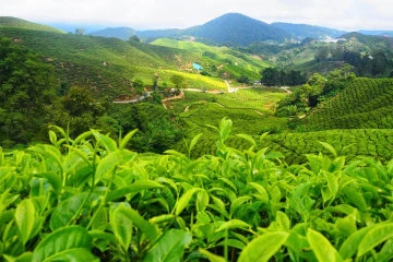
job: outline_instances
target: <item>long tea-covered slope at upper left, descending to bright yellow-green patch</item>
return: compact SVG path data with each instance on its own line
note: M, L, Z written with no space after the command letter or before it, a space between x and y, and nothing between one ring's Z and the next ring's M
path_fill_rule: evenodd
M116 38L61 34L16 27L0 27L0 36L12 38L55 66L59 83L87 86L98 97L132 95L132 81L140 79L153 85L158 75L159 86L171 86L170 78L181 74L186 87L226 88L219 79L200 76L192 62L217 66L211 59L188 50L153 46Z

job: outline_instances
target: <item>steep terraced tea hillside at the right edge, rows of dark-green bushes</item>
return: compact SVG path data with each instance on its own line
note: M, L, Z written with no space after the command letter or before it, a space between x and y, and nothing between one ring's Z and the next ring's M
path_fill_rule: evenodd
M393 79L356 79L303 124L308 130L393 128Z

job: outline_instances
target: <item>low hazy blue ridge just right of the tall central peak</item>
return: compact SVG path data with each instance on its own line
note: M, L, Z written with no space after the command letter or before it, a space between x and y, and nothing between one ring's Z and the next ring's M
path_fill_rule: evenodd
M343 34L346 34L345 31L338 31L322 26L315 26L315 25L307 25L307 24L290 24L290 23L272 23L273 26L278 27L288 34L290 34L291 37L302 40L305 38L314 38L314 39L322 39L326 37L336 38L342 36Z

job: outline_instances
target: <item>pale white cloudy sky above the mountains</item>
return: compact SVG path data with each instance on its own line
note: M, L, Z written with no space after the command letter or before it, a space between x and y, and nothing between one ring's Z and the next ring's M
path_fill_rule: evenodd
M0 16L36 23L186 28L225 13L345 31L393 31L392 0L0 0Z

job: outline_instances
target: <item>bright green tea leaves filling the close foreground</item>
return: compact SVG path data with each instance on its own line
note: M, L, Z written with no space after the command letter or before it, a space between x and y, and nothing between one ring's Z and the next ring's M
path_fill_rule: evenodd
M140 155L91 130L0 151L0 255L19 261L389 261L393 162L326 143L288 166L250 135L191 159ZM201 135L189 143L192 153Z

